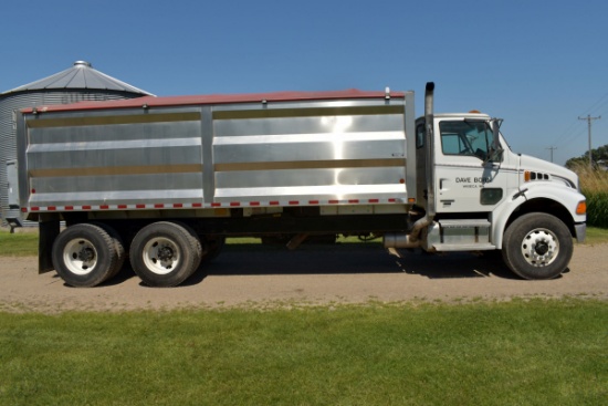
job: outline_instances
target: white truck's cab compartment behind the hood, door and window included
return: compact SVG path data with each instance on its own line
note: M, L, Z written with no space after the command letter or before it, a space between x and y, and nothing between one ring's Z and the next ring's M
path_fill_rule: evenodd
M489 212L509 190L516 188L509 169L516 167L512 154L504 153L504 139L493 146L490 116L480 113L434 115L432 174L427 174L424 118L417 121L416 149L421 165L418 196L423 196L427 175L433 176L438 212Z

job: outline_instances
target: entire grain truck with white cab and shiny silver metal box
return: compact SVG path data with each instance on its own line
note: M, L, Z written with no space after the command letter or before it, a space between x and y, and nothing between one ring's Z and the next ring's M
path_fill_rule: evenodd
M39 221L40 272L74 287L127 257L145 283L174 287L231 236L501 250L523 278L559 275L585 238L577 176L511 152L500 119L433 114L433 87L418 119L413 92L389 90L24 110L11 198L18 220Z

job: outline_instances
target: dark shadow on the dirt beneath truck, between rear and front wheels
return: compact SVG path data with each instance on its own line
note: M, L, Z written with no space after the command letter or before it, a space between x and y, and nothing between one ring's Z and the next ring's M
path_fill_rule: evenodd
M520 279L496 256L469 252L429 254L386 250L380 244L308 246L296 251L261 246L230 247L205 263L184 285L208 275L408 273L429 279Z

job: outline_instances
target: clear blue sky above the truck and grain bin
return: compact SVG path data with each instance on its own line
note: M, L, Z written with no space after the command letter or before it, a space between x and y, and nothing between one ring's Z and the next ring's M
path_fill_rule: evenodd
M28 0L0 4L0 93L84 60L159 96L416 92L564 164L608 144L606 0ZM549 149L556 148L556 149Z

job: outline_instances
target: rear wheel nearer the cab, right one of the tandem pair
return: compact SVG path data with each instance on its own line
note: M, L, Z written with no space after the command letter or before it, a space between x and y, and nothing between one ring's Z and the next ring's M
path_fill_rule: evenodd
M186 225L159 221L144 227L130 243L130 264L144 283L177 287L197 269L200 240Z

